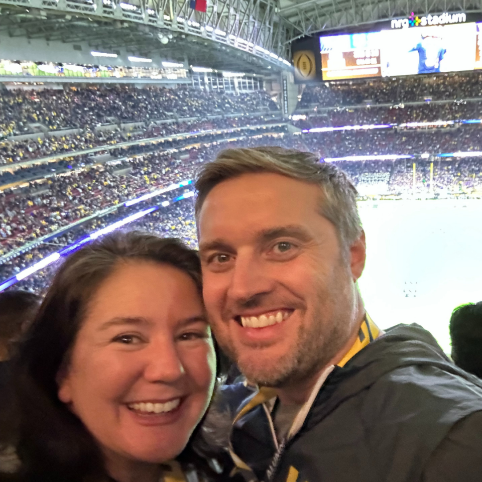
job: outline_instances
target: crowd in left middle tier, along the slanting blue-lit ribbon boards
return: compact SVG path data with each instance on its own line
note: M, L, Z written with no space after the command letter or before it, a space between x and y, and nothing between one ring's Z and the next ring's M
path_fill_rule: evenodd
M293 144L292 141L285 142L275 137L212 143L176 154L156 152L113 166L96 166L95 169L74 172L70 176L49 179L47 184L35 185L25 193L0 193L0 205L5 206L5 210L0 212L0 257L102 208L121 205L128 199L190 179L199 164L213 159L217 151L227 146L253 147L273 143L302 148L299 143ZM149 202L147 207L155 204ZM87 221L57 237L54 242L0 264L0 281L57 251L58 246L71 244L88 232L141 210L140 206L134 205L132 212L122 206L112 215Z

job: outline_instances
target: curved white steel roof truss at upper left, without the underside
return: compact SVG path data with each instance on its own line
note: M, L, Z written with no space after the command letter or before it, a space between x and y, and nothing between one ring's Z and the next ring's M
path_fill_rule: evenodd
M39 23L56 14L67 24L76 17L117 27L141 24L159 38L169 31L195 36L287 69L287 34L292 27L278 16L279 1L209 0L206 12L191 9L189 0L0 0L0 8L16 7L24 15L37 16Z

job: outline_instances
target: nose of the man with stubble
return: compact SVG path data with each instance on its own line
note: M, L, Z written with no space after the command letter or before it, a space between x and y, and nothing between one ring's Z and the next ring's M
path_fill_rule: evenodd
M227 296L231 302L245 303L267 294L273 289L273 280L261 259L249 254L236 257Z

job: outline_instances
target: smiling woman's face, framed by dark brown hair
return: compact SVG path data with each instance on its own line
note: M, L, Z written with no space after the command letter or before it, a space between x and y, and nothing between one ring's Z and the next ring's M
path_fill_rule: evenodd
M127 262L92 297L58 396L107 457L157 463L186 445L215 365L192 279L168 265Z

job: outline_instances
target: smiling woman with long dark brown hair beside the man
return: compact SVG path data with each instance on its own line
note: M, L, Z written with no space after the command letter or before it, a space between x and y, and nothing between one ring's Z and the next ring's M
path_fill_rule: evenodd
M166 462L206 411L215 364L193 251L138 232L83 247L57 272L16 363L17 479L179 477Z

